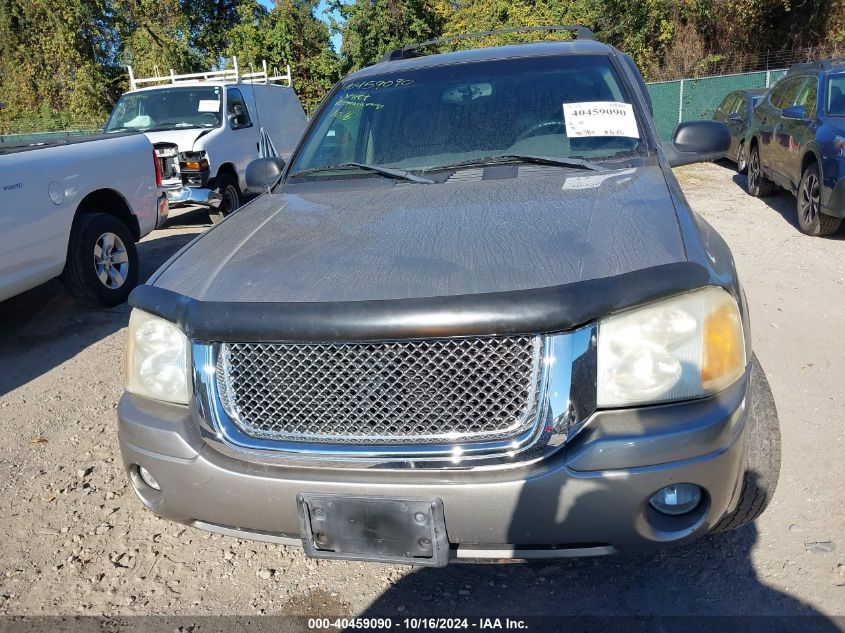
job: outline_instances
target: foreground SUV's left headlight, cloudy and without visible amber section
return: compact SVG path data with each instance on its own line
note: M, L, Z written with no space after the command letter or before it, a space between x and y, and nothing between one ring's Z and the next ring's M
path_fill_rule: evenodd
M173 323L133 310L126 346L126 391L188 404L188 338Z

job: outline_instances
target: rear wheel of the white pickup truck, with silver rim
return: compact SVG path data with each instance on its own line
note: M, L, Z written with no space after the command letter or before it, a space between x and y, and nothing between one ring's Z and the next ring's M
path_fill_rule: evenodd
M126 301L138 283L138 251L129 227L107 213L77 216L61 280L68 293L88 306Z

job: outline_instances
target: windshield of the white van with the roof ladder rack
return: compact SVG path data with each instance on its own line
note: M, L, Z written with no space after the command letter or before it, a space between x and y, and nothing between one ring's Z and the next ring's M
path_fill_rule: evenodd
M217 127L221 122L221 89L161 88L123 95L114 107L106 132Z

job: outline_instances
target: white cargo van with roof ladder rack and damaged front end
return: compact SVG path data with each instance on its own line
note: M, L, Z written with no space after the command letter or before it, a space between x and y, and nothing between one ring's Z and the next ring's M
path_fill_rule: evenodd
M237 209L247 192L246 166L260 156L290 156L305 129L302 105L284 75L233 70L136 78L114 107L105 132L140 131L155 147L171 207L207 205L218 222ZM154 84L141 87L146 84ZM284 84L284 85L283 85Z

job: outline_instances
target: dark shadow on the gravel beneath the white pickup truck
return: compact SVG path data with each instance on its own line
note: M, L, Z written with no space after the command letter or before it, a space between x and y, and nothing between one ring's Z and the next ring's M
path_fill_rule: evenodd
M139 243L139 279L146 280L194 237L195 233L162 237L153 233ZM114 308L83 307L55 279L0 302L0 396L126 327L129 311L125 303ZM106 370L119 373L121 363L122 358L115 358Z

